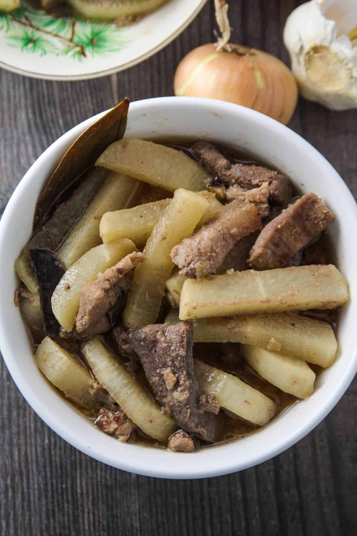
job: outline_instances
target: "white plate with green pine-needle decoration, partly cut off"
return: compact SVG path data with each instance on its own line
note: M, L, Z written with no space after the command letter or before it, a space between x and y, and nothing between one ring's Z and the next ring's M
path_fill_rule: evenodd
M170 0L132 26L56 19L25 1L0 12L0 67L48 80L110 75L147 59L176 38L207 0Z

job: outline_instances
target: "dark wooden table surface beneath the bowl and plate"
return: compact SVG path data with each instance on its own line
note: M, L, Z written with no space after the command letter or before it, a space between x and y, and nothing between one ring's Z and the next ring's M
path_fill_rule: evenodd
M299 3L231 0L232 42L288 63L282 30ZM0 71L0 213L29 166L73 125L124 95L131 100L172 95L179 60L211 41L213 29L209 2L156 56L96 80L60 83ZM357 110L331 112L302 99L290 123L335 166L354 195L356 124ZM357 534L357 380L330 415L282 455L240 473L191 481L139 477L88 458L37 417L2 361L0 382L4 536Z

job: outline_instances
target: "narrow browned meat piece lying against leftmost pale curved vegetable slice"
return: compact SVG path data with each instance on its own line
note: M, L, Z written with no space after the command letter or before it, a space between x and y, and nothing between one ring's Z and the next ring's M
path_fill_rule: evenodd
M143 258L142 253L134 251L104 273L98 273L95 281L90 281L82 288L75 320L75 328L81 338L93 337L110 329L107 312L115 305L120 295L128 292L133 268Z

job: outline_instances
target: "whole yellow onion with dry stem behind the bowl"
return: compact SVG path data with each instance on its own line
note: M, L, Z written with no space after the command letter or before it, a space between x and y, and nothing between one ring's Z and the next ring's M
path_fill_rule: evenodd
M183 58L174 76L175 95L234 102L286 124L298 99L294 75L275 56L228 43L228 6L222 0L215 0L215 4L223 36L217 43L204 44Z

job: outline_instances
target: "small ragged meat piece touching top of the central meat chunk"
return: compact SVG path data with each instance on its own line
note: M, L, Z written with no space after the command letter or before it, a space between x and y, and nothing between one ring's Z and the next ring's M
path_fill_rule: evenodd
M266 218L269 215L269 183L263 182L259 188L253 188L252 190L244 190L235 184L229 188L211 186L209 188L214 191L218 198L230 203L234 199L240 199L242 202L253 203L256 206L257 211L261 218Z

